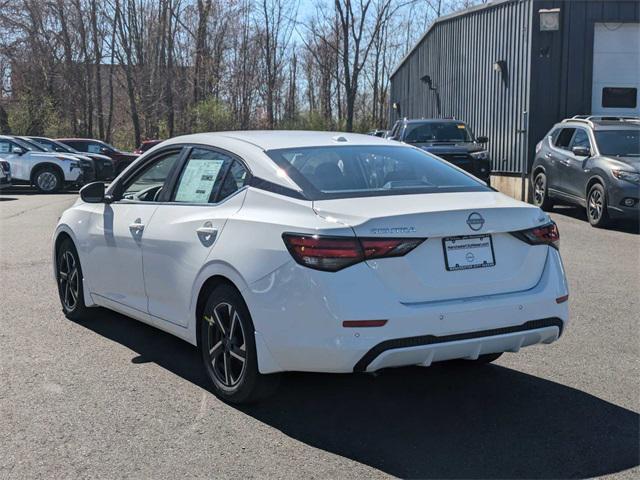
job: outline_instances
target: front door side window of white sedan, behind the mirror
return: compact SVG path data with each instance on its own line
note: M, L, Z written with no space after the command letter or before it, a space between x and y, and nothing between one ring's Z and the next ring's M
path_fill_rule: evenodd
M124 183L122 198L138 202L155 202L176 165L181 151L171 152L151 161Z

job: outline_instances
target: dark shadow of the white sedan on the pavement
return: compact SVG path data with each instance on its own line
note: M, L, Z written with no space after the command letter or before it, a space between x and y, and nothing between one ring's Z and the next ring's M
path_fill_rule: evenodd
M102 309L81 325L208 390L189 344ZM403 478L585 478L640 463L637 413L497 365L287 374L273 397L237 408Z

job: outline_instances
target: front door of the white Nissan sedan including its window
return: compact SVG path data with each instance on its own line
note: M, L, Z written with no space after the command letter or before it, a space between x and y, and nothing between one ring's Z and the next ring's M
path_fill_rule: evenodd
M147 314L142 242L180 154L177 149L149 159L109 190L115 201L92 215L85 267L92 294Z

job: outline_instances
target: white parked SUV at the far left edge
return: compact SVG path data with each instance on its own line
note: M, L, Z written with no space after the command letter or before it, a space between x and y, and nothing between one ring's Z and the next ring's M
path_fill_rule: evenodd
M40 151L36 146L8 135L0 135L0 156L11 165L14 184L33 185L42 193L83 185L85 179L93 175L90 166L83 166L81 160L71 155Z

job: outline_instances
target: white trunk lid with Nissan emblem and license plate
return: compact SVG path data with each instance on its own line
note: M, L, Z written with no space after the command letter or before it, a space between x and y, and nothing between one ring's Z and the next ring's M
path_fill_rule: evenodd
M358 237L427 239L405 256L367 262L403 303L533 288L542 275L548 252L546 245L531 246L510 232L543 225L549 217L537 207L497 192L321 200L314 202L314 210L324 218L349 225ZM484 255L490 264L491 254L495 265L467 268L467 250L462 251L463 260L458 259L460 268L448 265L458 257L451 250L445 253L445 240L450 239L449 247L461 242L451 237L476 237L469 241L483 244L473 250L477 258L469 265Z

